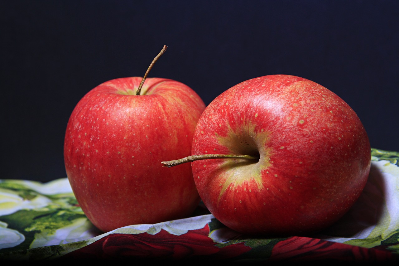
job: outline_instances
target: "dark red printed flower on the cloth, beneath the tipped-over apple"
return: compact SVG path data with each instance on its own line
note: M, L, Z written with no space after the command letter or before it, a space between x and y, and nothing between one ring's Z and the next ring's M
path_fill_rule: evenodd
M272 250L270 260L312 261L339 260L351 262L390 261L392 252L376 248L361 248L326 240L292 236L278 242Z

